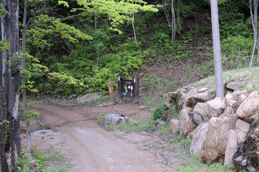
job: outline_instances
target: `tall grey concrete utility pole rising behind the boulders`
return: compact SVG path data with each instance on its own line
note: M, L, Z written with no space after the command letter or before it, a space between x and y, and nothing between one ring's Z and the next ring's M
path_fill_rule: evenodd
M217 0L210 0L211 6L211 22L212 22L212 37L213 37L213 54L214 54L214 71L216 80L216 97L224 97L223 90L223 74L221 63L220 50L220 28Z

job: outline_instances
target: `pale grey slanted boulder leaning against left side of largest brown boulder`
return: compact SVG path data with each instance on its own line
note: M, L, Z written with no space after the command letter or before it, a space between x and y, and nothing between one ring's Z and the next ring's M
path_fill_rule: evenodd
M208 123L201 123L194 131L193 131L193 141L190 148L190 153L193 155L200 156L201 155L201 146L206 137L206 132L208 131Z

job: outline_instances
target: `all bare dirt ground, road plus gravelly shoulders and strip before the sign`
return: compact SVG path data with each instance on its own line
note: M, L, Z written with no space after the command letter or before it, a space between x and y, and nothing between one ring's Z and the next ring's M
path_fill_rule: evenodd
M32 142L45 152L48 149L66 152L70 171L175 171L161 163L162 155L150 149L149 142L141 141L159 143L159 136L148 135L145 131L139 134L111 132L96 123L101 113L123 113L145 121L151 112L140 107L35 104L31 109L40 113L44 125L59 133L56 136L32 136ZM24 145L26 139L22 142Z

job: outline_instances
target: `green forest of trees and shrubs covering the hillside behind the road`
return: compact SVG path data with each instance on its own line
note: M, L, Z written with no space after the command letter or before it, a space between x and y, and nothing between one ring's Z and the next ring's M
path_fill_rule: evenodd
M223 72L258 68L257 4L217 1ZM33 159L30 125L39 116L31 109L34 103L74 103L100 92L99 99L83 105L104 104L108 79L117 96L118 74L138 75L140 103L155 108L158 118L168 92L215 74L209 0L1 0L0 17L2 171L9 168L9 147L12 171L30 171L22 159ZM19 116L26 121L28 154Z

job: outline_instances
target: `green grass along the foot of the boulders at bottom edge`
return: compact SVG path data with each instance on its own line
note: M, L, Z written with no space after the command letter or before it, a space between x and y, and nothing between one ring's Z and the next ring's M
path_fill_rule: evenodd
M181 172L234 172L235 166L233 164L223 166L221 163L203 164L199 156L189 155L189 160L185 160L182 165L177 165L176 170Z

